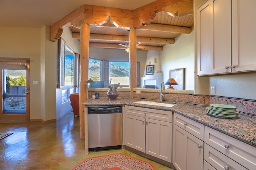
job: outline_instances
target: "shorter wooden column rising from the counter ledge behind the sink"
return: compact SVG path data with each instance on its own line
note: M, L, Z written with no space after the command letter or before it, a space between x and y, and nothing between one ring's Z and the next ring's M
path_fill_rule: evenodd
M136 82L137 82L137 74L136 74L136 43L137 43L137 37L136 37L136 29L131 28L130 29L130 36L129 36L129 47L130 47L130 53L129 53L129 62L130 62L130 88L131 88L131 98L133 98L133 89L136 88Z

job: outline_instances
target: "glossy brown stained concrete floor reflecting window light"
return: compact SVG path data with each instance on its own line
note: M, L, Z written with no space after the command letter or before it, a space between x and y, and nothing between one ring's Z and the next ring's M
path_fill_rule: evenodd
M151 162L156 170L173 170L128 150L107 150L84 154L79 117L64 115L52 123L0 123L0 133L13 133L0 140L0 170L71 170L86 158L124 153Z

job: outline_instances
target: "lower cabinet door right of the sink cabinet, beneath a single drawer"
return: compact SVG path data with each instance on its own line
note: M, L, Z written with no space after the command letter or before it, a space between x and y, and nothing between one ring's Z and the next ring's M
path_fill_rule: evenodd
M202 170L204 142L174 125L173 165L177 170Z

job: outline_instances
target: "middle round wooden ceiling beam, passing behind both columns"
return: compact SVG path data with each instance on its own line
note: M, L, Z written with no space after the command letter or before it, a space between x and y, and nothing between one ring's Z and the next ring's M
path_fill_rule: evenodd
M72 37L80 39L80 33L72 33ZM129 36L124 36L124 35L90 34L90 39L108 40L108 41L123 41L125 43L129 42ZM137 42L174 44L175 40L174 39L167 39L167 38L137 37Z

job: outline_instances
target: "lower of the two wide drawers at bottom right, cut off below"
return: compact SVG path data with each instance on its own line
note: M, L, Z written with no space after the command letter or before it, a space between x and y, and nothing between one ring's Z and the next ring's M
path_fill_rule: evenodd
M247 170L244 166L228 158L218 150L204 143L204 160L217 170Z

